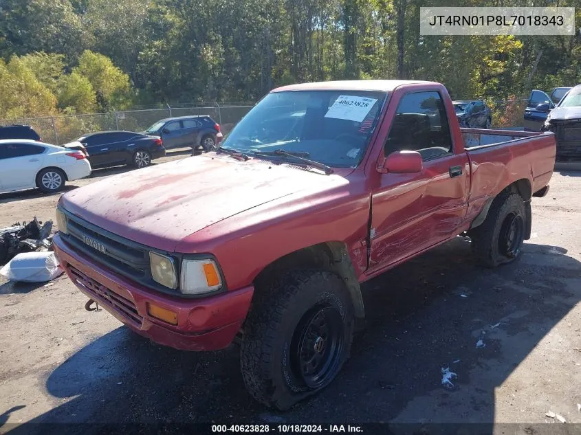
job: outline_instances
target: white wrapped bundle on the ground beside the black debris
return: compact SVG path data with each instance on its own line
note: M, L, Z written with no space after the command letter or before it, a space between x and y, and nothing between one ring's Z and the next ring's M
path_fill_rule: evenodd
M61 274L54 252L23 252L0 269L0 275L10 281L45 282Z

